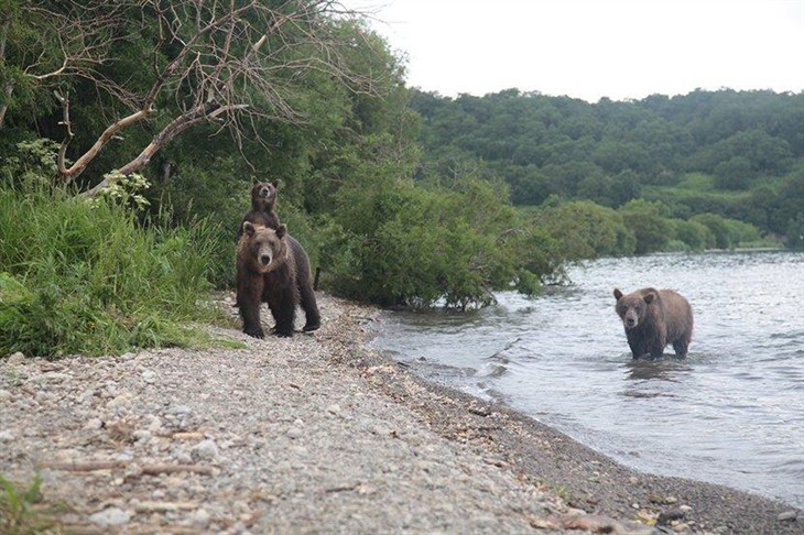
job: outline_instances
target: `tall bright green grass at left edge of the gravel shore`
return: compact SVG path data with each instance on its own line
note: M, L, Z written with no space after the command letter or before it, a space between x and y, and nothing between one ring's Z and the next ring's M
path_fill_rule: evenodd
M112 200L0 188L0 356L208 347L217 314L204 221L138 221Z

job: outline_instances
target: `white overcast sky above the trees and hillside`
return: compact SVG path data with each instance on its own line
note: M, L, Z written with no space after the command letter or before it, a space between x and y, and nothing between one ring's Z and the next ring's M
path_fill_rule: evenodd
M696 88L804 91L804 0L344 0L408 85L596 102Z

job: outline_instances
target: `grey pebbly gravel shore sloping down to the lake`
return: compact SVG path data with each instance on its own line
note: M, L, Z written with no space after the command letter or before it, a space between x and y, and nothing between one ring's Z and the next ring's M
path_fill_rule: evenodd
M248 349L0 360L0 474L68 533L804 533L789 505L623 468L367 348L374 310ZM0 523L0 527L2 524Z

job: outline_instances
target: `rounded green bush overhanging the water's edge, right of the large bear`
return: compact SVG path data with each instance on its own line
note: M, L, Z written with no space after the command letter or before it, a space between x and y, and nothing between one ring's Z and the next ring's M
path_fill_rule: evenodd
M378 178L378 176L381 176ZM466 308L491 291L540 290L556 264L551 240L477 178L449 185L356 175L322 222L325 284L346 296L415 307Z

